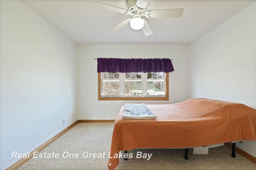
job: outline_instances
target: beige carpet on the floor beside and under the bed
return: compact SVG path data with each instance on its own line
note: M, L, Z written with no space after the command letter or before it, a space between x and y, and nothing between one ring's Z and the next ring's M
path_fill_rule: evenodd
M31 158L18 170L108 170L108 154L114 123L78 123L65 134L44 148L39 154L46 158ZM59 158L47 158L52 153ZM78 158L64 158L77 154ZM97 158L83 158L83 153L97 154ZM106 153L103 158L104 152ZM150 160L136 158L136 153L152 153ZM210 148L208 155L193 155L189 149L188 160L184 159L184 149L136 149L128 151L133 158L121 159L117 170L256 170L256 164L226 146ZM63 155L64 154L64 155ZM79 154L79 156L78 156ZM100 156L100 154L102 154ZM74 155L75 156L75 155ZM84 155L86 157L86 154ZM102 157L102 158L100 158Z

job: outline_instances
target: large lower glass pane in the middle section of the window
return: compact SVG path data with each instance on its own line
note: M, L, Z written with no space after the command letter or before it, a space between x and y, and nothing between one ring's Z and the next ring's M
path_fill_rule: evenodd
M141 96L142 85L141 81L126 81L125 82L125 95L126 96Z

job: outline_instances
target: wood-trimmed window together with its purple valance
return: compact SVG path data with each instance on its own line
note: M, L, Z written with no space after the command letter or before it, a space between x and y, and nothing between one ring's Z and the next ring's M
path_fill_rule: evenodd
M97 58L98 100L169 100L171 59Z

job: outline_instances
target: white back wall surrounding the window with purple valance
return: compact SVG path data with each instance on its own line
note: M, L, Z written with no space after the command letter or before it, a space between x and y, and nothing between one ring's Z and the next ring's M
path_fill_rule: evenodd
M170 58L169 101L98 101L97 60L94 58ZM116 119L125 102L177 103L188 99L188 46L80 45L78 46L78 119Z

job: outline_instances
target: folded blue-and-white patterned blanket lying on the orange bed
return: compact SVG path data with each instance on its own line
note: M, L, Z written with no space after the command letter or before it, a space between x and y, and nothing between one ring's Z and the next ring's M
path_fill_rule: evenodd
M124 104L123 119L156 119L156 116L148 109L148 107L142 104Z

